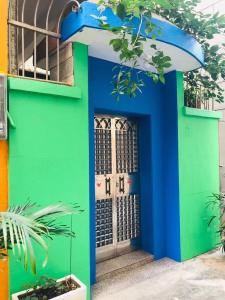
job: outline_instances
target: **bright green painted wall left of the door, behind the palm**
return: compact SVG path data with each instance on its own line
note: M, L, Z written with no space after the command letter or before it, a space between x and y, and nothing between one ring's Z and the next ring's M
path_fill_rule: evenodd
M71 253L72 272L90 287L87 46L76 44L74 58L75 81L81 92L9 78L9 109L16 126L9 133L9 192L11 204L27 199L41 206L63 201L78 203L85 210L73 217L77 237ZM63 221L70 222L70 217ZM39 252L39 262L42 258ZM50 241L48 265L39 267L38 273L54 278L70 273L69 239ZM24 289L33 279L11 257L11 293Z

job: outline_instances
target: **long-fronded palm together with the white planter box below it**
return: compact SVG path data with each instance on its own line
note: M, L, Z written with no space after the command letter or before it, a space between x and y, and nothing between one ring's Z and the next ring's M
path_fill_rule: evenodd
M11 250L14 255L17 255L23 261L25 270L28 269L30 261L31 270L36 274L33 242L39 244L46 252L43 262L43 267L45 267L48 260L46 238L52 239L57 235L74 237L71 228L56 223L59 217L73 214L74 209L66 207L62 203L50 205L36 211L34 211L34 208L34 204L27 203L11 207L6 212L0 212L0 259L4 259L7 256L7 251ZM46 292L48 294L45 295ZM48 279L43 284L34 286L31 290L12 295L12 299L85 300L86 287L74 275L70 274L57 281Z

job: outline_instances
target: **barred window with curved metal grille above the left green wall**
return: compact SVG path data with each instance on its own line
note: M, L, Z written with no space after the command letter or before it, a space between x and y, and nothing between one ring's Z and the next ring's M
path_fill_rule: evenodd
M60 27L76 0L9 0L9 73L73 84L71 43L61 42Z

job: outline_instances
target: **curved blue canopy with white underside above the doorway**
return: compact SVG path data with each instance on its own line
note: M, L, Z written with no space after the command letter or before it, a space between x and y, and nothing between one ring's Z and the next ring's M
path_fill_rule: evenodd
M90 56L118 63L118 55L109 46L113 34L103 30L99 20L93 17L100 15L97 8L98 5L95 3L83 2L79 12L71 12L62 23L62 40L88 44ZM114 15L110 8L107 8L102 15L107 17L107 23L111 26L123 25L121 19ZM141 34L147 37L145 52L151 55L153 50L150 50L150 45L156 44L165 55L170 56L172 67L167 72L172 70L186 72L204 66L203 49L193 36L162 18L153 18L153 23L156 28L160 28L156 40L152 39L152 34L146 36L144 24L141 28ZM137 30L138 25L139 20L134 20L132 23L134 31Z

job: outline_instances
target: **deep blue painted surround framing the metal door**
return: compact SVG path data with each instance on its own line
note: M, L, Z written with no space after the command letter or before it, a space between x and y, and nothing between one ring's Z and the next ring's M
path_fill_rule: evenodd
M111 96L114 64L89 58L90 134L90 249L91 283L96 280L95 249L95 149L94 115L132 116L139 122L142 249L155 259L168 255L180 259L179 178L177 140L176 72L167 83L154 84L146 78L146 88L135 99ZM168 148L170 164L168 165ZM166 170L166 174L165 174ZM171 200L173 206L171 206ZM169 216L172 215L172 220ZM168 224L167 224L168 222ZM168 226L167 226L168 225ZM172 238L172 243L171 239Z

